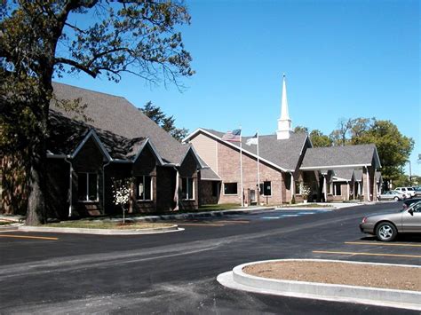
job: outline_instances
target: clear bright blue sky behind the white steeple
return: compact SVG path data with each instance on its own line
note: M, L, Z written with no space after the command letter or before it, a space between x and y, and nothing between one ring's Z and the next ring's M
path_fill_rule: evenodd
M148 100L178 127L256 130L271 134L287 75L293 127L329 134L338 119L391 120L414 138L412 173L421 175L420 6L417 1L187 1L192 23L181 28L196 75L187 89L121 83L85 75L58 80Z

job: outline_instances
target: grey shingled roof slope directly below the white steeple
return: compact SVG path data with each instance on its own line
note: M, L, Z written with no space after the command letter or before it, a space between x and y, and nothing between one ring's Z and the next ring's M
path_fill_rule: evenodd
M225 132L203 129L222 138ZM257 154L257 146L247 146L246 142L252 137L242 137L242 150ZM303 132L291 133L289 139L278 140L276 135L258 136L258 156L270 161L282 169L295 170L299 156L306 142L307 135ZM240 146L238 142L230 142Z

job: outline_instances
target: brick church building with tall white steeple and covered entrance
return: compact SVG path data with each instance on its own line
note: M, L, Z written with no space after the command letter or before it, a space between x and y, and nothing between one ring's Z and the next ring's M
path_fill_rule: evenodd
M381 167L376 146L314 148L306 133L293 132L285 76L277 127L273 135L258 136L258 146L247 145L251 137L227 141L225 132L217 130L199 128L189 134L184 142L193 145L206 164L200 170L201 202L279 205L376 199L376 170ZM336 173L353 171L361 173L359 181L346 177L345 184L338 185L344 178Z

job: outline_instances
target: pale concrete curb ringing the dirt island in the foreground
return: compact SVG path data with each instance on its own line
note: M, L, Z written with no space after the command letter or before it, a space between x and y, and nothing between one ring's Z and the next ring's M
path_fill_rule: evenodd
M363 303L421 311L421 292L417 291L394 290L377 287L334 285L305 281L274 280L260 278L242 272L242 268L250 264L262 264L281 261L323 261L346 264L393 265L400 267L421 268L421 266L416 265L361 263L348 262L342 260L339 261L323 259L275 259L238 265L234 267L232 272L225 272L219 274L217 280L221 285L225 287L255 293L285 295L292 297L311 298L317 300L347 303Z

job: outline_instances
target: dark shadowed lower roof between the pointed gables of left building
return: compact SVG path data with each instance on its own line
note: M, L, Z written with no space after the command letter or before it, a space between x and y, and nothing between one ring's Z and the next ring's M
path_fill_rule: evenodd
M86 137L92 126L78 122L50 110L47 149L52 154L71 155ZM107 130L94 129L100 142L113 159L131 160L139 153L146 138L125 138Z

